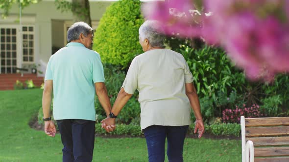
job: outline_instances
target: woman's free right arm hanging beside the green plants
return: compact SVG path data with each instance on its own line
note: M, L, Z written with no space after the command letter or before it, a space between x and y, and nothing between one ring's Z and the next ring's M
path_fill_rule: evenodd
M193 109L193 113L194 116L196 118L195 121L195 127L194 127L194 133L196 133L197 129L198 129L198 134L199 134L199 138L202 137L203 133L204 133L204 123L203 123L203 118L202 118L202 114L201 114L201 109L200 109L200 102L198 99L198 95L196 93L196 89L193 85L193 82L191 83L186 83L186 95L188 96L192 109Z

